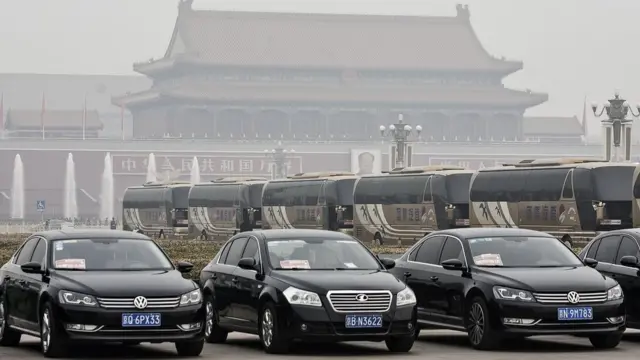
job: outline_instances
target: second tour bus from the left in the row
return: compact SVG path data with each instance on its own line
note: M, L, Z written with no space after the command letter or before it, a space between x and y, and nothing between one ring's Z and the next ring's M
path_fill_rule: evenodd
M195 184L189 192L189 233L226 241L238 232L260 229L266 182L266 178L228 177Z

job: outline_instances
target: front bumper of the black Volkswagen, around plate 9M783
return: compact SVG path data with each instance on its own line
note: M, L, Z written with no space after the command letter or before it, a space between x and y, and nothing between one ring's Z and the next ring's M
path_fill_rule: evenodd
M498 329L516 335L574 335L622 332L626 328L622 300L600 304L540 304L513 301L495 302L493 319ZM592 307L592 320L558 320L558 308ZM506 319L533 320L530 324L514 324ZM617 320L617 321L614 321Z

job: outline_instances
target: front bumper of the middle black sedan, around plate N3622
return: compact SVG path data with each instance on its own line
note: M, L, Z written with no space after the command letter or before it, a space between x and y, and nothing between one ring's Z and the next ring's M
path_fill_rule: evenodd
M310 342L383 341L413 336L417 319L415 306L392 306L384 313L371 313L382 315L382 327L379 328L346 328L345 318L349 314L326 307L287 304L278 313L282 314L281 324L285 324L283 328L290 339Z

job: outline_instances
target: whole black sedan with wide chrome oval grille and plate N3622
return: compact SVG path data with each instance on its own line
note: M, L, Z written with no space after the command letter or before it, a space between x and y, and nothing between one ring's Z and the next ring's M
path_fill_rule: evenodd
M413 291L354 238L322 230L263 230L231 238L202 270L208 342L257 334L267 353L293 340L414 342Z

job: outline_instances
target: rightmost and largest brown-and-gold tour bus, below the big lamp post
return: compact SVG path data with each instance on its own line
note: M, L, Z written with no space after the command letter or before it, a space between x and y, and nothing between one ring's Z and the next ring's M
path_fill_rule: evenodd
M635 165L594 159L524 160L479 170L471 181L472 227L520 227L565 245L632 222Z

